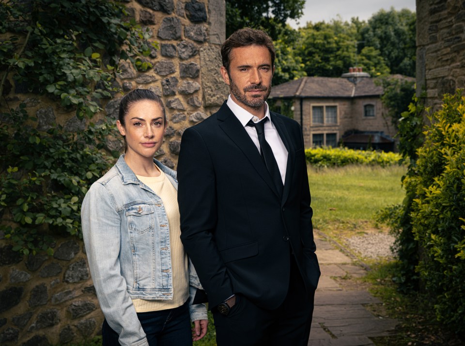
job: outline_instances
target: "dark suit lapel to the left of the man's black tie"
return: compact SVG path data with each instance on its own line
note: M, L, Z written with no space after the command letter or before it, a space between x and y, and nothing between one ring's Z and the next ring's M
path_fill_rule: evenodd
M248 135L244 126L240 123L239 119L236 118L233 111L226 105L226 102L223 103L221 108L218 110L217 118L219 120L219 127L241 149L257 173L262 177L270 189L278 195L275 184L263 163L263 159L260 156L257 147L252 142L252 139Z

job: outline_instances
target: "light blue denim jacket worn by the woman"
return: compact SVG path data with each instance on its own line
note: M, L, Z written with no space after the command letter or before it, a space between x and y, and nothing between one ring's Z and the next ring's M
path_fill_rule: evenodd
M177 189L176 172L154 159ZM163 201L120 156L92 184L81 209L82 233L98 301L122 345L148 346L131 299L173 298L170 228ZM207 319L202 289L189 260L191 320Z

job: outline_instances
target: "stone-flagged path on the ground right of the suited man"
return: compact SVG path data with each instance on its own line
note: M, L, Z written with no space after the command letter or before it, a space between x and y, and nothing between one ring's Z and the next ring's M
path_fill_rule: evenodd
M370 337L392 333L397 322L380 318L365 308L381 301L366 290L344 287L335 278L362 277L364 267L341 252L338 246L315 232L321 277L315 292L315 309L309 346L374 346Z

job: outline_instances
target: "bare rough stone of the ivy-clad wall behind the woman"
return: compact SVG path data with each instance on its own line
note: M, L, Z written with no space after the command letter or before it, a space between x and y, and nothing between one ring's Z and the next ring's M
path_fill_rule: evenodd
M225 39L224 0L126 0L130 16L153 32L159 48L149 57L154 67L138 72L122 63L117 83L128 92L148 88L162 96L168 130L158 158L175 168L184 129L205 119L226 99L229 90L219 74L220 45ZM11 76L10 76L11 77ZM13 84L13 80L10 78ZM117 117L123 94L115 94L100 116ZM10 107L25 102L36 126L58 123L82 131L85 121L45 96L13 88ZM103 315L77 238L57 239L53 257L20 257L0 234L0 344L62 345L92 338Z

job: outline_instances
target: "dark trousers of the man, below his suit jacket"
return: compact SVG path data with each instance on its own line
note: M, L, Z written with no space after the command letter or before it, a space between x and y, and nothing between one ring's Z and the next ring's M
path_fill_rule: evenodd
M309 297L311 296L311 297ZM238 295L227 315L213 311L218 346L307 346L313 314L313 296L291 260L289 291L275 310L256 306Z

